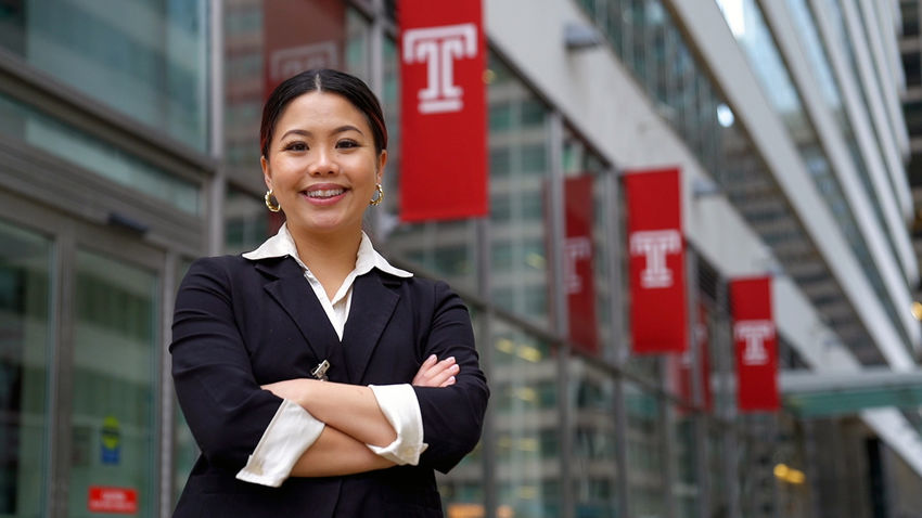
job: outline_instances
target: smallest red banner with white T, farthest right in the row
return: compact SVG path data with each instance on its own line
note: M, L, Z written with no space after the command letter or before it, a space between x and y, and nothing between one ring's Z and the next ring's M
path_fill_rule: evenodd
M777 411L778 337L771 312L771 277L730 282L740 411Z

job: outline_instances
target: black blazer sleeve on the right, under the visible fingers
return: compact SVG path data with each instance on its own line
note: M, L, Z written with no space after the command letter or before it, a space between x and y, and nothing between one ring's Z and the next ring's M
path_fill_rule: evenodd
M489 389L474 347L468 308L444 282L436 283L434 289L432 326L422 358L454 357L460 371L450 387L413 389L423 419L423 441L428 444L420 464L448 472L481 439Z

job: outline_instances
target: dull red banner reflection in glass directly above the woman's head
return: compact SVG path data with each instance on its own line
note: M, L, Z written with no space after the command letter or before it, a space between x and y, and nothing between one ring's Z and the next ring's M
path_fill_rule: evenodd
M262 96L311 68L345 66L346 2L262 0Z

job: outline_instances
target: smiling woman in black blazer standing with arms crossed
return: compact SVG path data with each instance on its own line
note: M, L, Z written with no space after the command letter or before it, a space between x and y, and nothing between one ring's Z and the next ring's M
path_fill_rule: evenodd
M359 79L280 85L260 129L266 204L286 222L180 286L172 375L202 455L176 517L437 517L433 469L479 439L488 399L470 316L361 230L387 131Z

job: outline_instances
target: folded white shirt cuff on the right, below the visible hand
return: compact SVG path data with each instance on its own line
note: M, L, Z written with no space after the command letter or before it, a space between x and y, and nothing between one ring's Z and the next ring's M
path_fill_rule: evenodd
M417 392L407 384L369 387L374 392L381 412L397 432L397 439L384 448L367 444L368 448L398 466L415 466L420 462L420 454L428 448L423 442L423 416Z

